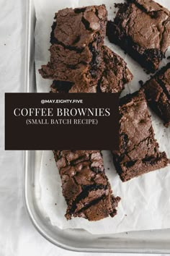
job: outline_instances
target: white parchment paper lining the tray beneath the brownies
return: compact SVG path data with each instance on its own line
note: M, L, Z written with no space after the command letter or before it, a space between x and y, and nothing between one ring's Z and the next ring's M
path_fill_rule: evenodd
M122 1L117 0L115 2ZM158 3L170 9L168 0L160 0ZM109 20L113 19L114 1L35 0L37 17L35 67L38 93L49 92L49 86L52 83L51 80L42 79L37 69L40 68L41 64L46 64L50 57L48 48L50 48L50 32L55 12L66 7L75 8L93 4L106 4L108 18ZM124 51L118 46L109 43L107 38L105 44L125 59L130 71L134 74L133 81L126 86L121 96L138 90L140 88L138 81L143 80L145 82L150 78L150 75L146 74L143 68L133 61L130 56L125 55ZM167 51L166 56L169 55L170 51ZM164 59L161 66L164 66L166 62L167 59ZM170 128L165 128L162 121L153 112L151 112L151 118L160 150L165 150L170 158ZM51 223L61 229L86 229L93 234L170 228L170 166L164 168L164 170L153 171L132 179L130 182L122 183L112 163L111 153L104 151L103 155L105 171L113 193L122 197L117 208L117 216L97 222L89 222L83 218L73 218L71 221L66 221L64 217L66 201L61 192L61 178L55 166L53 153L52 151L43 151L40 165L41 202Z

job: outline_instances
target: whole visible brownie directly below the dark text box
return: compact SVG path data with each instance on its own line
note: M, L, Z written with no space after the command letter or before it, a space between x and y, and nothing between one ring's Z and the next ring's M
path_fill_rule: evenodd
M120 197L112 195L100 151L54 150L53 153L68 205L66 218L70 220L73 216L99 221L114 217Z

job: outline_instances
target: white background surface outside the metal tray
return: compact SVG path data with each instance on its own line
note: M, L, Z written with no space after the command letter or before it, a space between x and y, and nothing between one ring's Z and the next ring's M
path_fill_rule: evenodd
M0 256L89 256L66 252L47 242L25 213L22 152L4 151L4 93L24 90L25 1L0 0L0 9Z

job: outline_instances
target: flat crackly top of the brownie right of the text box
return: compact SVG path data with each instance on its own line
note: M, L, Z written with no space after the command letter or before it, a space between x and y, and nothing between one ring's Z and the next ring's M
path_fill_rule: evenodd
M158 154L151 118L142 90L120 100L120 155L124 161Z

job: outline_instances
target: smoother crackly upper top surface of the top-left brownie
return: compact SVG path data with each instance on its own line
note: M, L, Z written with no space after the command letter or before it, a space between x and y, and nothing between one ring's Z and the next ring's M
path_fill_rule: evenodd
M105 35L107 9L104 5L66 8L55 14L51 43L84 48L94 40L95 33Z

